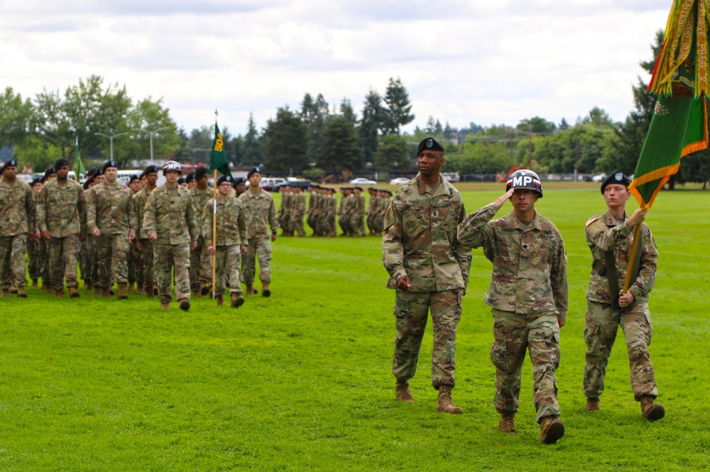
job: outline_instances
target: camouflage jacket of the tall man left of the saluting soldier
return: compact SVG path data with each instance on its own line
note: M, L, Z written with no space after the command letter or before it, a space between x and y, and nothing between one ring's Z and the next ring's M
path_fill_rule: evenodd
M457 225L466 216L461 194L442 177L432 194L419 175L397 191L385 215L382 263L387 287L408 275L412 292L466 288L471 250L459 242Z

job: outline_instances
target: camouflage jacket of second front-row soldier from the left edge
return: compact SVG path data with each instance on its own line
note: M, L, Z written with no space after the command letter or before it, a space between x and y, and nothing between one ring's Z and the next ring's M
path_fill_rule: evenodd
M37 197L37 229L49 231L53 238L86 233L86 197L78 182L67 179L60 185L52 179L42 186Z

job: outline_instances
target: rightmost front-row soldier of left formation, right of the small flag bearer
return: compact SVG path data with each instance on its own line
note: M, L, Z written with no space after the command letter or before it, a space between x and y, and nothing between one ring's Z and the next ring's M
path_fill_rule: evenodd
M276 219L276 207L271 195L259 188L261 182L261 169L253 168L249 170L246 179L249 180L249 190L241 194L239 199L244 205L246 214L246 233L249 235L249 243L244 260L244 284L246 285L246 296L254 295L254 274L256 273L256 261L259 260L259 280L261 280L261 295L271 296L271 241L276 241L276 230L278 220ZM271 241L269 232L271 230Z

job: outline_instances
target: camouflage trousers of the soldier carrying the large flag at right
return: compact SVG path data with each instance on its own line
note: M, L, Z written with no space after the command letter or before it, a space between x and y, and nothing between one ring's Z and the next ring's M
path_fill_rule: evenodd
M587 302L584 320L584 383L582 390L589 398L599 397L604 391L604 375L611 348L621 325L626 337L626 351L630 366L631 388L636 401L643 395L657 397L656 379L648 354L653 333L648 303L633 304L625 312L616 312L611 305Z

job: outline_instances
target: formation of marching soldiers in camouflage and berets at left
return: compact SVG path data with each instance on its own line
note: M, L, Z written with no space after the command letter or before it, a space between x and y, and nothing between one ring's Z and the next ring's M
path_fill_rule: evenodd
M89 169L83 185L67 178L66 159L29 184L16 177L16 160L7 161L0 170L0 211L8 215L0 223L2 297L27 297L29 273L33 287L41 280L42 289L56 298L64 297L65 289L71 298L80 297L82 280L85 290L104 298L125 299L129 292L153 298L157 292L161 308L168 309L174 281L176 298L185 311L190 308L191 292L201 297L214 290L217 304L224 304L225 285L230 287L232 307L244 303L239 280L249 220L238 198L246 190L244 179L216 182L224 188L217 195L217 247L213 248L214 191L207 186L206 168L187 176L190 190L178 185L181 168L175 161L162 168L167 183L161 187L155 185L160 172L155 165L131 176L126 185L118 182L114 161ZM234 209L241 214L234 216ZM233 218L239 221L238 237L231 234ZM251 216L252 221L260 218ZM220 258L222 253L232 254L230 246L238 248L238 260ZM213 255L217 256L215 287L211 286ZM262 294L271 295L268 285L266 289ZM252 289L248 295L255 292Z

